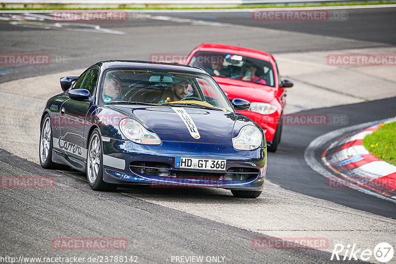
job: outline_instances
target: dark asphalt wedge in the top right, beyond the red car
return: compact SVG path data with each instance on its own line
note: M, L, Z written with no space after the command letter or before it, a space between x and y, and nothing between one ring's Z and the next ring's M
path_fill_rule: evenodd
M315 7L309 9L315 10ZM308 10L309 10L308 9ZM257 12L262 9L257 9ZM319 10L319 9L316 9ZM328 10L331 14L331 9ZM335 11L335 10L333 10ZM244 25L250 27L263 27L276 30L285 30L289 32L301 32L314 35L338 37L355 39L361 41L372 41L387 44L396 44L395 30L396 30L396 8L389 7L384 10L383 8L372 8L370 11L365 9L337 9L340 15L345 12L345 20L327 22L320 21L312 23L311 21L263 21L252 19L250 12L239 12L238 14L229 13L211 13L205 14L182 14L176 15L177 17L202 19L205 21L230 23L236 25ZM369 15L368 15L369 12ZM172 14L175 16L175 14ZM254 15L253 15L254 17ZM329 24L330 23L330 24ZM280 42L288 42L286 37ZM316 46L310 50L323 50L326 47ZM303 49L294 48L293 51L302 51Z

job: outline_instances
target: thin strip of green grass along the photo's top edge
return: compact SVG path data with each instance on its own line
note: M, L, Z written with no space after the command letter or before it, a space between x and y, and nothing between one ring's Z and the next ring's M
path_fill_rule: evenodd
M318 6L348 6L348 5L375 5L375 4L395 4L396 1L373 1L373 2L339 2L339 3L317 3L317 4L285 4L285 5L275 5L275 4L262 4L262 5L243 5L235 7L173 7L173 6L147 6L147 7L133 7L133 6L119 6L113 8L70 8L64 5L50 5L48 7L21 7L21 8L11 8L11 7L0 7L0 10L109 10L109 9L132 9L132 10L190 10L190 9L246 9L246 8L291 8L291 7L318 7Z

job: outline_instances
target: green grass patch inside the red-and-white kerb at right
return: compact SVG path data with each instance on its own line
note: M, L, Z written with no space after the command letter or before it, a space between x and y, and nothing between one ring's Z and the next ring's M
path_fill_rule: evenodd
M380 160L396 166L396 122L383 125L363 139L364 147Z

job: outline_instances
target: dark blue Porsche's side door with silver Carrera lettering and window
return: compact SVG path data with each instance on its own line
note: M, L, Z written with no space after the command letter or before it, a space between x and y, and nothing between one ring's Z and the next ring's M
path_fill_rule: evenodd
M90 91L91 100L74 100L69 98L60 107L59 125L60 138L59 148L71 158L69 162L76 162L75 159L86 160L87 149L84 144L84 127L86 125L86 115L93 105L93 96L98 83L99 68L91 68L84 72L71 89L87 89ZM73 164L80 167L77 164Z

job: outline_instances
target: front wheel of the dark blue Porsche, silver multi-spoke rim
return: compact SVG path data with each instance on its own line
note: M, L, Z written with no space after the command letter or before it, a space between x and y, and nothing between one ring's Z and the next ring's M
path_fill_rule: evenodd
M88 144L87 178L95 191L113 191L117 188L103 180L103 146L98 129L92 132Z

